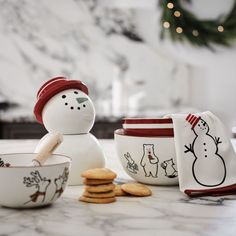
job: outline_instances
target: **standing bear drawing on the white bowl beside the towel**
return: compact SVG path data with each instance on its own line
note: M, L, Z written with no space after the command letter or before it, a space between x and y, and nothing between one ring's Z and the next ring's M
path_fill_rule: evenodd
M157 178L159 159L154 153L154 144L143 144L143 157L140 165L143 167L145 177Z

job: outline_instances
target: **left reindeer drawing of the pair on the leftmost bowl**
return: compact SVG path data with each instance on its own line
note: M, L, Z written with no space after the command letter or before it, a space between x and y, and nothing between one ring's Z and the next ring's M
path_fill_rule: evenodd
M51 183L50 179L47 179L46 177L42 178L39 171L32 171L30 173L32 177L24 177L23 183L26 185L26 187L32 187L34 186L36 188L36 192L30 195L30 200L25 202L25 204L29 202L39 202L41 199L41 202L44 202L47 188Z

